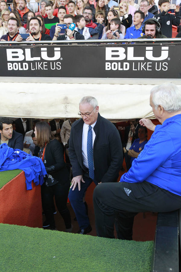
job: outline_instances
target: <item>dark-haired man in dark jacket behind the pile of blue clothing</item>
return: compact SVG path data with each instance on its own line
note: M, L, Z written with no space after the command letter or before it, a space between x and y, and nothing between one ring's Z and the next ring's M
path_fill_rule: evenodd
M23 135L13 130L12 122L7 117L0 118L0 144L23 150Z

